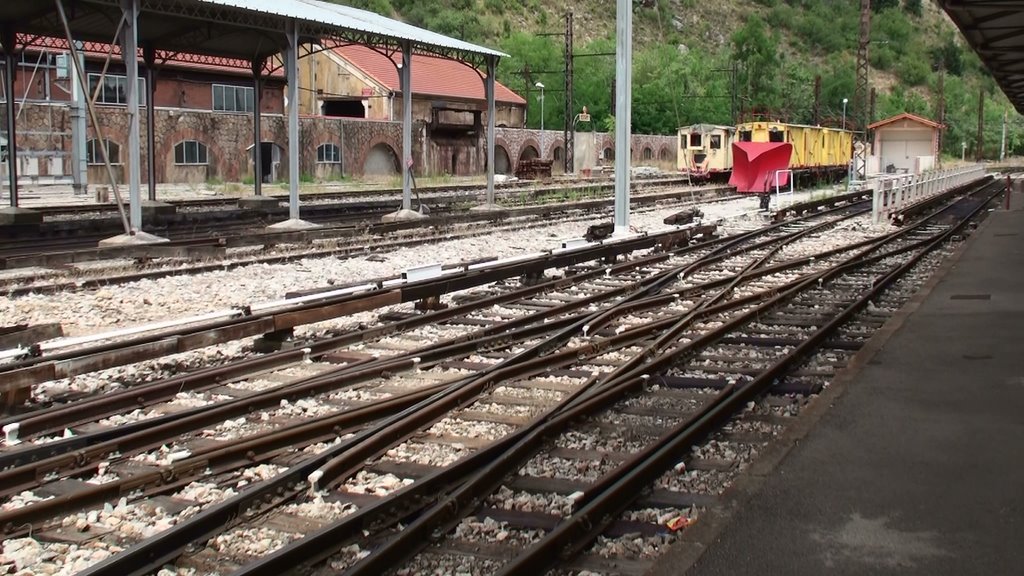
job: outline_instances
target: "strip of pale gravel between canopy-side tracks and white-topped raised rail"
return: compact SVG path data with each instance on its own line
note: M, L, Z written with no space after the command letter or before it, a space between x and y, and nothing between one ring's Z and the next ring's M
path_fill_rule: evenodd
M727 218L724 232L746 230L762 222L756 208L755 198L701 206L706 219ZM678 210L678 206L669 206L636 211L631 215L631 228L637 232L663 230L666 227L662 220ZM507 257L551 249L558 246L559 239L580 237L591 223L603 221L606 220L595 217L589 222L554 223L528 232L498 232L376 254L372 259L306 258L284 264L254 264L231 271L142 280L91 291L4 297L0 298L0 318L5 325L59 322L67 335L92 334L275 300L293 290L394 276L428 262Z

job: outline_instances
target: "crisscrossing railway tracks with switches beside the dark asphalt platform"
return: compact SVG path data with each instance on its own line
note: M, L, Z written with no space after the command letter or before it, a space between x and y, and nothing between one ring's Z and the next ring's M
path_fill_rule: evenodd
M679 458L711 420L756 400L813 346L830 341L824 359L840 364L879 320L864 324L861 336L835 336L837 318L864 307L855 288L877 284L913 247L949 234L948 227L908 227L882 240L865 234L833 250L815 246L849 217L817 224L807 218L683 248L663 244L668 249L615 264L585 259L569 263L564 278L525 289L509 276L486 296L465 296L476 301L462 306L397 314L347 340L158 382L163 393L153 392L156 384L126 390L119 402L134 394L141 405L135 422L95 424L99 414L90 410L115 404L114 395L92 401L92 409L82 408L88 400L70 404L60 417L56 410L18 416L6 424L20 424L26 440L66 425L88 430L90 422L95 436L0 453L6 494L33 490L13 494L0 526L17 536L26 524L59 525L59 532L79 530L83 521L85 532L101 532L95 542L106 547L96 553L112 552L140 540L132 536L151 535L119 526L136 527L163 509L160 536L90 574L154 570L207 540L209 548L182 558L182 570L268 574L326 561L352 573L446 572L458 568L450 561L469 559L476 563L470 571L524 573L541 568L537 558L556 558L552 549L586 549L605 528L611 536L666 539L666 522L685 526L708 499L668 494L679 492L668 483L632 517L591 508L607 506L601 496L623 482L633 483L626 493L640 494L629 454L656 460L659 474L666 465L678 472ZM849 290L824 294L843 286ZM812 328L819 325L829 330L818 335ZM682 359L689 364L680 366ZM815 392L813 382L800 383L820 379L808 372L780 389ZM166 409L175 386L202 392L197 405ZM581 420L587 427L569 427ZM698 431L687 431L696 424ZM658 444L684 434L688 444ZM574 462L569 478L545 476L566 461ZM705 471L716 465L722 467L706 462L712 469ZM643 469L643 486L659 478ZM40 501L48 492L57 495ZM615 505L632 501L622 493ZM86 511L103 502L101 510ZM172 516L175 508L188 511ZM583 536L572 522L581 515L590 527ZM438 536L445 533L455 536ZM473 541L488 534L487 542ZM397 564L431 541L413 568ZM252 542L258 545L243 546ZM234 558L226 554L231 550ZM587 566L600 565L599 557L591 554ZM639 570L644 562L627 565Z

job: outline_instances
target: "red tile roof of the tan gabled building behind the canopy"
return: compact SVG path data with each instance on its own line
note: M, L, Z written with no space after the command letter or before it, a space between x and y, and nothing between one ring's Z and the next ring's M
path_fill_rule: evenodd
M386 89L399 91L398 69L393 63L401 60L401 53L388 58L381 52L361 44L335 48L335 52ZM388 61L391 59L392 61ZM476 71L458 60L413 54L413 93L450 98L483 100L483 79ZM495 82L495 100L525 105L519 94Z

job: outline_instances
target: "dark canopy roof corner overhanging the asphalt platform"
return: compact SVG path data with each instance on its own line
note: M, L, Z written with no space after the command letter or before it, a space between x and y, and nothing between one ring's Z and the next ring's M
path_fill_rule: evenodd
M939 5L1024 114L1024 0L939 0Z

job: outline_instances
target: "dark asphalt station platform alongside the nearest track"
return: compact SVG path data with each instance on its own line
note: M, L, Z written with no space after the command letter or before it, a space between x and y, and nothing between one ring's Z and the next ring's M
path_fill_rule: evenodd
M1024 574L1024 194L1011 206L652 574Z

